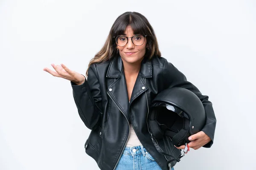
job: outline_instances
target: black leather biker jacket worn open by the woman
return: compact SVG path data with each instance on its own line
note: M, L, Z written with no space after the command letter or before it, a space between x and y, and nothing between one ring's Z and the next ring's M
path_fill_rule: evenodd
M125 74L120 56L110 61L90 65L87 80L82 85L71 82L79 116L91 129L85 151L102 170L114 170L129 136L129 123L140 142L163 170L168 170L166 159L157 152L148 131L147 116L150 103L163 89L183 87L194 92L204 104L206 125L203 130L213 142L216 119L212 103L198 88L163 57L144 58L136 79L130 103ZM173 146L173 150L177 150ZM180 150L175 151L176 157Z

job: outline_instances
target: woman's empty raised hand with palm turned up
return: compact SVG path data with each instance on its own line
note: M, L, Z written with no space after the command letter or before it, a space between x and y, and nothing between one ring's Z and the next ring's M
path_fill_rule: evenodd
M77 85L81 85L84 83L85 77L83 75L77 73L76 71L70 70L64 64L61 64L61 65L51 64L51 65L56 72L46 67L43 70L48 72L49 74L52 74L52 76L54 77L61 77L61 78L70 80L76 83Z

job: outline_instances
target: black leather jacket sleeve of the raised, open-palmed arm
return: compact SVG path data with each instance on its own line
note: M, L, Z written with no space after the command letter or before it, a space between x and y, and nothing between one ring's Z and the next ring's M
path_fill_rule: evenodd
M95 65L90 65L83 84L71 82L71 86L80 118L86 127L96 129L102 117L102 96Z

